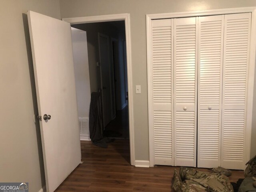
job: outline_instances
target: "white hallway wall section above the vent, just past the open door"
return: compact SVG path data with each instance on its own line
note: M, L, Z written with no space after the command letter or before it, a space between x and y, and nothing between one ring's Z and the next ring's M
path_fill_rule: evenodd
M90 75L86 32L71 28L78 117L89 117Z

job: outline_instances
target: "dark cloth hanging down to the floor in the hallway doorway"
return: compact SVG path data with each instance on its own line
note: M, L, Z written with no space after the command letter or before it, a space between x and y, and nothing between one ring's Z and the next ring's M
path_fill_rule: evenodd
M108 148L108 143L112 139L103 137L102 135L102 103L101 103L101 93L92 92L91 103L90 103L90 114L89 114L89 130L90 139L92 143L96 146Z

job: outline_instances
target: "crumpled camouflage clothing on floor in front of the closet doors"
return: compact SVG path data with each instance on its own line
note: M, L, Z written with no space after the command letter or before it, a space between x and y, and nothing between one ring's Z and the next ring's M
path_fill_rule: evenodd
M173 185L176 192L233 192L227 176L180 167L180 175L174 171Z

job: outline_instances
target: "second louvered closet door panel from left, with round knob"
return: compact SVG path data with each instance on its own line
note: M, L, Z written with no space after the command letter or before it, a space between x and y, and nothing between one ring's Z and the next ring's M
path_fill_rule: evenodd
M175 166L196 166L196 20L174 19Z

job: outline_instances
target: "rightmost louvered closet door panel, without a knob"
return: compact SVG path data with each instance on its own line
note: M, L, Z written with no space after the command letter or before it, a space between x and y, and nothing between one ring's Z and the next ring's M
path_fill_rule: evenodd
M244 169L251 13L225 15L221 166Z

